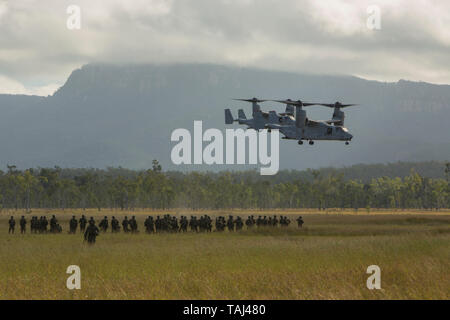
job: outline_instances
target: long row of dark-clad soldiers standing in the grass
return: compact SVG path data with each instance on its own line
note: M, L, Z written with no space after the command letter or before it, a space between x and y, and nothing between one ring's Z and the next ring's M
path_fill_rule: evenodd
M299 216L297 219L298 227L301 228L303 226L303 218ZM286 216L280 216L279 218L274 215L272 216L258 216L255 219L253 215L248 216L247 219L244 220L237 216L234 218L232 215L228 216L226 219L223 216L219 216L215 219L215 228L216 231L225 231L227 229L230 232L240 231L243 229L244 224L247 226L247 229L252 229L253 227L287 227L291 223L290 219ZM26 224L27 221L24 216L21 217L19 221L20 231L21 233L26 232ZM14 217L11 216L9 220L9 230L8 233L14 233L16 222ZM49 222L45 216L41 216L39 219L36 216L31 218L31 233L47 233L47 227ZM102 232L107 232L109 228L108 217L105 216L99 223L98 227L95 225L95 220L93 217L86 219L84 215L81 216L79 220L76 219L75 216L72 216L72 219L69 221L69 233L75 234L78 226L80 227L80 232L84 233L85 239L89 243L94 243L96 236ZM87 228L86 228L87 226ZM208 215L200 216L199 218L196 216L191 216L190 219L186 216L181 216L178 220L176 216L171 216L166 214L164 216L157 216L154 219L152 216L148 216L144 222L145 231L147 233L159 233L159 232L187 232L188 228L192 232L212 232L213 228L213 220ZM131 219L128 219L127 216L122 220L122 230L125 233L138 233L138 223L136 221L136 217L132 216ZM50 219L50 230L51 233L61 233L62 228L58 223L55 215ZM115 216L112 216L111 219L111 232L117 233L120 232L120 222L116 219Z

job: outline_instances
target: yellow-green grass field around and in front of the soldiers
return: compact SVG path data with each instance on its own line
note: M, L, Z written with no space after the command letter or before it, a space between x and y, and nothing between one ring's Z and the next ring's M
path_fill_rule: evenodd
M94 246L79 233L67 234L72 213L81 211L32 213L56 214L64 230L56 235L21 235L18 225L8 235L11 213L0 214L0 299L450 297L448 211L290 211L291 220L303 215L303 229L291 223L276 230L157 235L143 232L146 212L128 212L137 216L141 232L101 234ZM253 212L233 211L238 213ZM17 222L22 214L15 213ZM124 215L92 210L87 216L113 214ZM366 287L373 264L381 268L381 290ZM81 290L66 288L69 265L81 268Z

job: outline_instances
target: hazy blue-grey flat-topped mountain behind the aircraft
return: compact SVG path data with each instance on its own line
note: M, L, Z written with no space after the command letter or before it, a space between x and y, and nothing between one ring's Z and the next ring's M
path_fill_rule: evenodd
M174 166L171 132L192 130L194 120L225 129L224 108L251 114L250 105L231 98L254 96L359 104L345 109L349 146L281 140L284 169L450 159L449 85L203 64L86 65L53 96L0 95L0 166L146 168L158 159L166 169L221 169ZM308 108L312 119L331 113Z

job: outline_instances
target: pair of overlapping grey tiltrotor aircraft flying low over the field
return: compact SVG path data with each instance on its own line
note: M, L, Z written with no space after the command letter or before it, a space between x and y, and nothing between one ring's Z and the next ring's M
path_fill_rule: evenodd
M335 140L349 141L353 136L348 129L344 127L345 114L341 111L342 108L354 106L355 104L342 104L336 102L330 103L311 103L302 102L301 100L293 101L287 100L260 100L253 99L235 99L239 101L246 101L252 103L253 118L247 119L244 110L238 110L238 118L234 119L230 109L225 109L225 124L232 124L238 122L239 124L247 125L249 129L278 129L284 135L283 139L298 140L298 144L302 145L303 140L309 141L310 145L314 144L314 140ZM275 111L264 112L258 103L265 101L274 101L286 104L286 111L284 113L276 113ZM331 120L311 120L306 116L306 111L303 107L319 105L329 108L334 108L333 117ZM294 114L295 110L295 114Z

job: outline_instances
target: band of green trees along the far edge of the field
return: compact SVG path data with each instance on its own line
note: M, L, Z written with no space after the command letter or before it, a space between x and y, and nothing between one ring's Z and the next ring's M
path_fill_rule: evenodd
M370 182L343 174L309 171L312 179L272 182L249 172L164 172L158 161L148 170L123 168L0 171L0 209L111 208L450 208L450 163L444 178L414 170L403 178Z

